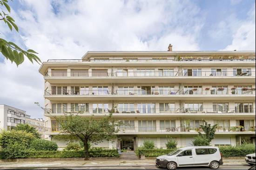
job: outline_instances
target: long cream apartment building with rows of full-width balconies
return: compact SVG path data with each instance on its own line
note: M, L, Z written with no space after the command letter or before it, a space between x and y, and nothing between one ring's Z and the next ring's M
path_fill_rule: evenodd
M82 59L50 59L45 80L45 139L54 116L113 116L125 124L115 142L136 149L143 140L165 148L168 137L189 146L202 119L217 124L212 145L255 143L255 51L88 51ZM50 114L49 114L50 113Z

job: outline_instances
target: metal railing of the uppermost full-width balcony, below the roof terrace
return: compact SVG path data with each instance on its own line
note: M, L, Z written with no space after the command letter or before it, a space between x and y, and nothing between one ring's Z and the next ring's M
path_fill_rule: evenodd
M54 71L47 72L45 76L48 77L237 77L237 76L255 76L255 71L247 72L212 72L212 71L197 71L197 72L178 72L178 71L130 71L130 72L67 72L67 71Z

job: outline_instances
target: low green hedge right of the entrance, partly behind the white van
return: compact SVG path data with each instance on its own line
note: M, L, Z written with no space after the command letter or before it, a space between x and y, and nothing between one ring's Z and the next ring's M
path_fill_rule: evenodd
M136 149L135 153L137 156L140 156L141 154L144 154L145 157L158 157L161 155L166 155L175 149L143 149L138 148Z

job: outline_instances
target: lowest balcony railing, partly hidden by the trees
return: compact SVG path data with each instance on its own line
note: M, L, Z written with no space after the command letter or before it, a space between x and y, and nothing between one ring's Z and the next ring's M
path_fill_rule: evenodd
M117 127L119 133L125 132L203 132L199 126L180 126L180 127L167 127L167 126L152 126L152 127L135 127L135 126L120 126ZM45 132L60 132L60 127L45 127ZM255 126L239 127L239 126L217 126L216 132L255 132Z

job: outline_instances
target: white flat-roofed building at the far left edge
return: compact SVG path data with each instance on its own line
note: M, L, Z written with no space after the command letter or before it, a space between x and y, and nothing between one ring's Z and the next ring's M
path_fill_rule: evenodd
M26 111L0 104L0 129L10 130L17 124L25 124Z

